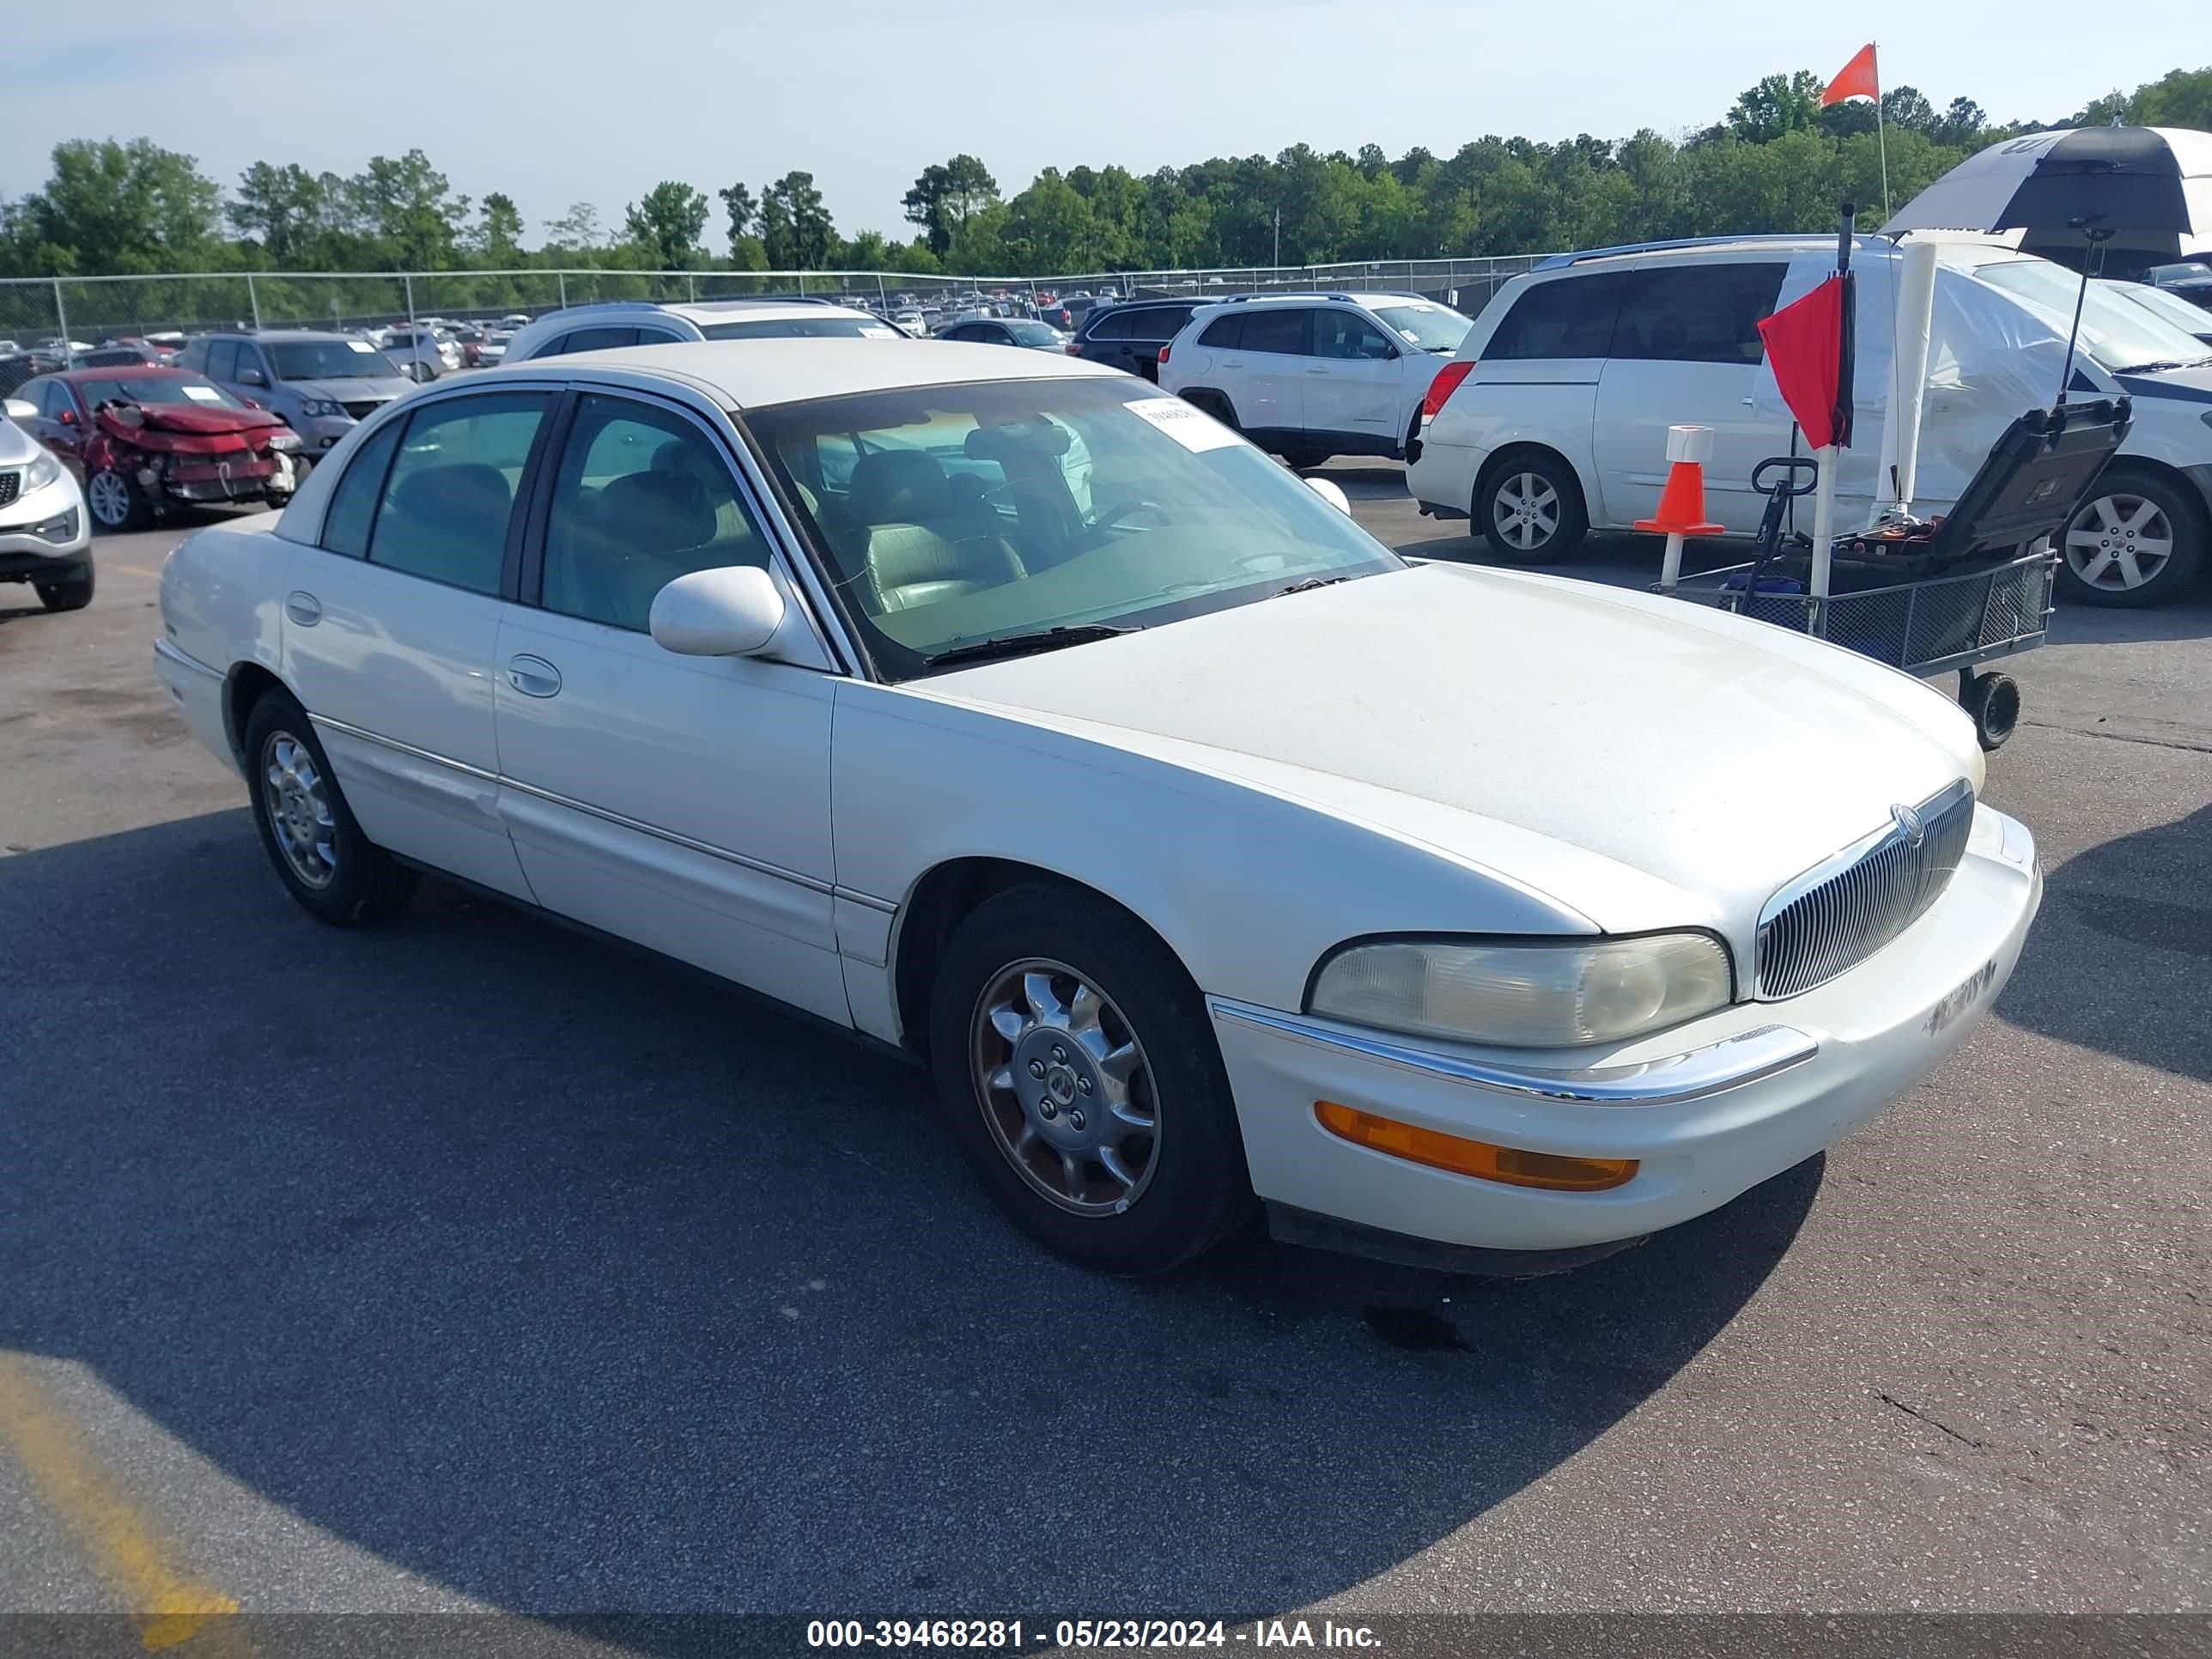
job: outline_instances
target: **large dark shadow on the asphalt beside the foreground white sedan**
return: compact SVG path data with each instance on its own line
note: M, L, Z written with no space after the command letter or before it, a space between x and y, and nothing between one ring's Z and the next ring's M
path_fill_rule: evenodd
M1347 1590L1668 1383L1823 1168L1555 1279L1126 1283L918 1068L449 887L321 927L243 810L0 858L0 1345L513 1610Z

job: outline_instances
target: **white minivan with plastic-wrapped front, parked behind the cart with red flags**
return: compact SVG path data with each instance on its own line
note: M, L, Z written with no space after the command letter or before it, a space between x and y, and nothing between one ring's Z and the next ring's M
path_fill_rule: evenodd
M1902 254L1865 237L1858 272L1856 445L1838 524L1876 493ZM1506 283L1425 400L1407 484L1425 513L1473 518L1515 564L1568 557L1590 529L1650 518L1666 429L1712 427L1705 518L1759 529L1752 469L1790 453L1792 420L1759 319L1836 268L1834 237L1728 237L1557 254ZM1936 325L1913 511L1949 509L1997 434L2059 389L2079 279L2011 248L1938 250ZM2081 604L2179 595L2212 538L2212 356L2201 341L2090 285L2073 396L2130 396L2135 425L2066 531L2059 591Z

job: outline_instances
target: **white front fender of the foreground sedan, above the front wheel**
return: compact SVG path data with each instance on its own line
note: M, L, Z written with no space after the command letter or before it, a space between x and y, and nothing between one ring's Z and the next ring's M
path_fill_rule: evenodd
M1197 984L1298 1009L1367 933L1595 933L1694 922L1641 872L1513 825L1256 757L907 686L838 686L838 949L856 1022L898 1040L891 971L929 872L1033 865L1144 920Z

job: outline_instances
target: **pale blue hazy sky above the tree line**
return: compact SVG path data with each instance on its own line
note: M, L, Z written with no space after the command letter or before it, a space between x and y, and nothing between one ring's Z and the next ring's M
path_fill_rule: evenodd
M1046 164L1146 173L1301 139L1398 155L1677 133L1869 38L1885 86L2000 119L2057 119L2212 58L2199 0L383 0L281 22L139 7L157 27L119 20L131 7L18 11L0 195L38 188L62 137L144 133L226 186L254 159L356 173L420 146L456 190L515 197L533 232L571 201L619 223L657 179L712 192L807 168L841 230L907 234L900 195L958 150L1013 192Z

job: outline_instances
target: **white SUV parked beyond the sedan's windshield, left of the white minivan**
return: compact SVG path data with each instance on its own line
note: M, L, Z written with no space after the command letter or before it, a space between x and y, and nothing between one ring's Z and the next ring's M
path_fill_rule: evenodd
M1407 453L1420 400L1471 323L1416 294L1267 294L1192 312L1159 385L1292 467Z

